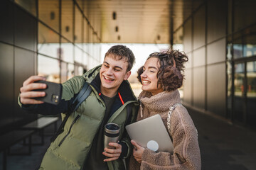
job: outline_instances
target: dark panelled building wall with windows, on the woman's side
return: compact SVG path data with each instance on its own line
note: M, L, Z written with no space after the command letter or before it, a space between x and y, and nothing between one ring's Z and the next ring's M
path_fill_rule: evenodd
M191 1L174 28L174 44L183 44L189 57L184 103L250 128L256 128L255 6L253 0Z

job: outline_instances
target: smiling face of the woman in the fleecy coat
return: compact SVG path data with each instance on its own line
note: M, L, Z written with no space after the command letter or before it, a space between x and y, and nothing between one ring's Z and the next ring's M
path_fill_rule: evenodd
M152 95L159 94L164 91L160 84L157 84L157 73L159 72L159 59L151 57L146 60L143 73L141 74L142 79L142 90L149 91Z

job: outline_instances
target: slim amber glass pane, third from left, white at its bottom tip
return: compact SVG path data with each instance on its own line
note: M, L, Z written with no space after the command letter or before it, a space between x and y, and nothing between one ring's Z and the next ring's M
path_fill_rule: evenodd
M75 45L82 48L82 13L75 6Z

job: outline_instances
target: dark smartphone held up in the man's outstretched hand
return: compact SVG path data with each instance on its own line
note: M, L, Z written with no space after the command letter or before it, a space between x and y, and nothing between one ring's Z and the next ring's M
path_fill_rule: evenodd
M50 81L35 81L35 83L41 83L41 84L46 84L47 87L46 89L36 89L35 91L45 91L46 96L44 97L38 97L34 98L38 101L44 101L46 103L51 103L54 105L57 105L60 103L61 99L61 94L62 94L62 85L61 84L56 84Z

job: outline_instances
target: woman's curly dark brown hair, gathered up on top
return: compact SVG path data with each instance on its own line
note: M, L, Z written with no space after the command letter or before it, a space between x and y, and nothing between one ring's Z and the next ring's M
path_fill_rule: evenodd
M188 61L188 56L185 52L178 50L168 50L166 52L154 52L149 55L147 60L151 57L159 59L159 72L157 73L158 84L161 84L164 91L174 91L180 88L183 84L184 62ZM139 82L142 83L141 74L143 67L137 71Z

